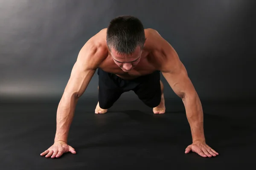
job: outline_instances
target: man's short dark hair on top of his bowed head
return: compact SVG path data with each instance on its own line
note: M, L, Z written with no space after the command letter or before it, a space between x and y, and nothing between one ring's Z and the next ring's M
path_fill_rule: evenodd
M142 22L130 15L123 15L111 20L107 29L108 48L114 48L120 54L131 54L145 43Z

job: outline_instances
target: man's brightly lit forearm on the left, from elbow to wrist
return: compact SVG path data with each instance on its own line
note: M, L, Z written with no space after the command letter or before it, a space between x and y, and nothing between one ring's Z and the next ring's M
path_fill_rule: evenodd
M54 141L67 142L70 125L73 121L77 98L75 95L63 94L57 109L56 134Z

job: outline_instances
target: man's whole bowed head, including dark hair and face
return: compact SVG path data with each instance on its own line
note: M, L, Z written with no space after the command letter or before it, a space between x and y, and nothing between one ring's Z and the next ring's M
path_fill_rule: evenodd
M136 17L116 17L108 26L106 41L114 62L123 71L131 71L139 63L144 47L143 24Z

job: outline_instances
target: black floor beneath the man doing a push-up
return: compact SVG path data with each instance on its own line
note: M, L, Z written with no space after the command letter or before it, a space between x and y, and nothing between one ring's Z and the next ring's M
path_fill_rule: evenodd
M204 107L207 144L219 156L185 154L191 133L182 102L166 100L154 115L140 101L118 101L108 113L94 114L96 100L79 101L69 144L77 154L51 159L40 153L53 144L58 103L0 105L1 170L123 170L246 168L256 159L255 106L208 103Z

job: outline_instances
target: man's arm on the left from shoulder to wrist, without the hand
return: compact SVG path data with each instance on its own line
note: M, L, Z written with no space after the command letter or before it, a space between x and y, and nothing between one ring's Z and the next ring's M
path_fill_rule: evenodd
M58 105L54 142L63 141L67 143L77 101L86 90L96 68L102 61L103 51L91 42L87 42L79 52L77 61L71 71L70 79Z

